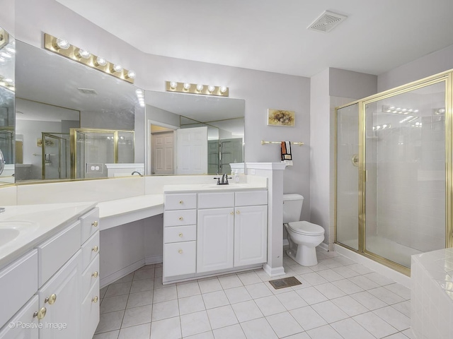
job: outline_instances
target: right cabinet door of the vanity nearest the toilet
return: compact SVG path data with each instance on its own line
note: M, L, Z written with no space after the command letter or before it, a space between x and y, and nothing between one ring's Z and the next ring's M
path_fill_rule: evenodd
M234 266L265 263L268 256L268 206L236 207Z

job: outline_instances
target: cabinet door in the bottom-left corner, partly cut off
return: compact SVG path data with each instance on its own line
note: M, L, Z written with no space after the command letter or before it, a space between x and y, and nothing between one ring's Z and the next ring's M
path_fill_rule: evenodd
M0 339L38 339L38 318L33 316L35 311L38 311L37 295L0 330Z

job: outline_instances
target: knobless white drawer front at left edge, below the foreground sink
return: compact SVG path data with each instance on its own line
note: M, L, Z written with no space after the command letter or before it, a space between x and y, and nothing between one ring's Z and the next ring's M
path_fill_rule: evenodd
M37 266L38 251L34 249L0 270L0 327L38 290Z

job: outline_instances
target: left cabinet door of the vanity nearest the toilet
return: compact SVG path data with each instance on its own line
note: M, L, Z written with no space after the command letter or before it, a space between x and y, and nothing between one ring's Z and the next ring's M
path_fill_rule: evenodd
M234 208L198 210L197 273L233 267Z

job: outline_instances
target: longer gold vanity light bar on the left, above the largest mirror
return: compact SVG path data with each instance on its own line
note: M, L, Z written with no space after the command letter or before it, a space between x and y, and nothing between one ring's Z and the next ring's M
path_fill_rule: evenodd
M86 49L81 49L62 38L53 37L50 34L44 33L44 47L51 52L67 57L71 60L77 61L98 71L110 74L128 83L134 83L135 72L123 69L119 64L113 64L102 57L97 57L91 54Z

